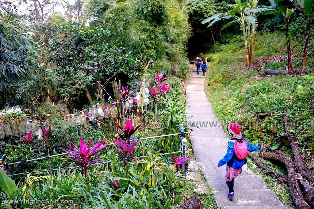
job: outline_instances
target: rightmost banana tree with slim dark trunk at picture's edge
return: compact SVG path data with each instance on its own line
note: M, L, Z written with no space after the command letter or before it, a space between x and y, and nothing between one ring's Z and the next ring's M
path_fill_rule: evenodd
M309 45L310 38L310 29L311 23L314 20L314 0L297 0L299 6L303 9L306 18L306 36L305 36L305 45L302 59L301 73L305 72L306 59L307 59L307 50Z

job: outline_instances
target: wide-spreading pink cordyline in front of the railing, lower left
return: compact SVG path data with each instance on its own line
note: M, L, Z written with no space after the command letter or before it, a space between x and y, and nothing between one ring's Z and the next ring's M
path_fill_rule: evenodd
M101 141L96 142L95 144L92 145L92 139L90 139L87 147L84 138L81 137L81 144L79 149L77 146L75 146L75 144L73 144L71 140L69 140L70 150L66 150L63 148L61 149L66 151L71 156L71 158L69 158L70 160L79 165L80 172L84 177L91 165L103 161L103 159L100 158L91 159L91 157L108 145L104 143L105 141Z

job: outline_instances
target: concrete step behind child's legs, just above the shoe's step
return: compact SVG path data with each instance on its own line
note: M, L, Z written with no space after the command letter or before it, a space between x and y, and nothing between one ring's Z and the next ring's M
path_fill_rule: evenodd
M228 185L225 183L225 175L206 176L207 182L214 191L228 191ZM247 190L249 188L258 190L266 189L266 185L259 175L238 175L234 182L236 192Z

